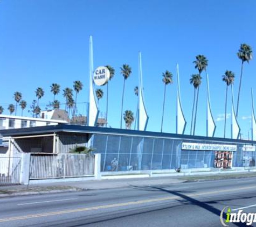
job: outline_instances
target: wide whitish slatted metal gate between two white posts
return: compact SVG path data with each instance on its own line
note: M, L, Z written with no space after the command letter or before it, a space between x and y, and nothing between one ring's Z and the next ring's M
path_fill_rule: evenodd
M94 175L94 155L31 154L30 180Z

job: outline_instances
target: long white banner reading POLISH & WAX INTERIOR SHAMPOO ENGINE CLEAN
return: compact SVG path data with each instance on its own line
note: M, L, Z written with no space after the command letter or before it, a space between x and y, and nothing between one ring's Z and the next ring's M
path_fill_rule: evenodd
M193 150L193 151L237 151L237 145L182 143L182 150Z

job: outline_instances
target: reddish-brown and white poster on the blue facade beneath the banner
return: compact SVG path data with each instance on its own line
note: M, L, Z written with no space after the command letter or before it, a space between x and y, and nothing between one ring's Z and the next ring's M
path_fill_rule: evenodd
M215 168L229 169L232 167L233 152L216 151L215 152Z

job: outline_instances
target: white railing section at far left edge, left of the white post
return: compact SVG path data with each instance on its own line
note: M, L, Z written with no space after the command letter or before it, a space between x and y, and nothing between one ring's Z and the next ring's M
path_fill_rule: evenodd
M0 157L0 186L20 183L20 157Z

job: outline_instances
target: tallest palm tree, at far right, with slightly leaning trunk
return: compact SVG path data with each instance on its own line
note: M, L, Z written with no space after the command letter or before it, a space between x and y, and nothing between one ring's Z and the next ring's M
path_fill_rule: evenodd
M241 89L241 82L242 82L242 76L243 76L243 65L246 61L249 63L250 60L252 60L252 48L251 46L247 44L241 44L240 49L237 53L238 58L242 61L241 63L241 74L240 74L240 81L239 81L239 89L238 89L238 97L237 97L237 117L238 117L238 107L239 107L239 98L240 98L240 89Z

